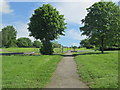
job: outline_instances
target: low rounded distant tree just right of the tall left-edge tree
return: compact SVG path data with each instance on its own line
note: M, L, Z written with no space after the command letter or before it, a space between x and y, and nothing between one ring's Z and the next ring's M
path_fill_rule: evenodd
M29 38L18 38L17 40L18 47L32 47L33 44Z

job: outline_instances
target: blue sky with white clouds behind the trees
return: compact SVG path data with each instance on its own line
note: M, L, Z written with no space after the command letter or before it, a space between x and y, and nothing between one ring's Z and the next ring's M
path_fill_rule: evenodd
M60 36L55 40L63 46L79 46L82 39L87 36L82 36L80 27L83 26L81 20L87 15L86 8L90 7L95 2L100 0L0 0L0 28L7 25L13 25L17 30L17 38L28 37L32 41L35 39L29 37L29 31L27 30L27 24L29 18L34 13L33 11L43 4L51 4L56 8L60 14L65 17L67 23L67 29L65 29L65 36ZM107 0L109 1L109 0ZM119 2L119 0L112 0L113 2Z

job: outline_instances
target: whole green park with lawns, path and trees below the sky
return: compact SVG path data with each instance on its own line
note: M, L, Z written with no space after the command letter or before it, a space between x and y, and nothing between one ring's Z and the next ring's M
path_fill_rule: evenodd
M27 32L34 40L17 38L14 25L3 27L2 88L117 89L120 6L99 1L85 9L86 16L79 20L83 25L77 28L86 38L78 46L56 41L67 36L65 30L70 26L54 4L42 4L30 15Z

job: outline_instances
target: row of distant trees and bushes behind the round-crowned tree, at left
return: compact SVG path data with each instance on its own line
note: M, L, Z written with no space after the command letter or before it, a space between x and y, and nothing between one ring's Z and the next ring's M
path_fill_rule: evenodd
M0 31L0 41L2 41L1 47L42 47L40 41L35 40L32 42L29 38L21 37L16 39L17 31L13 26L6 26ZM53 48L61 47L58 42L52 42Z

